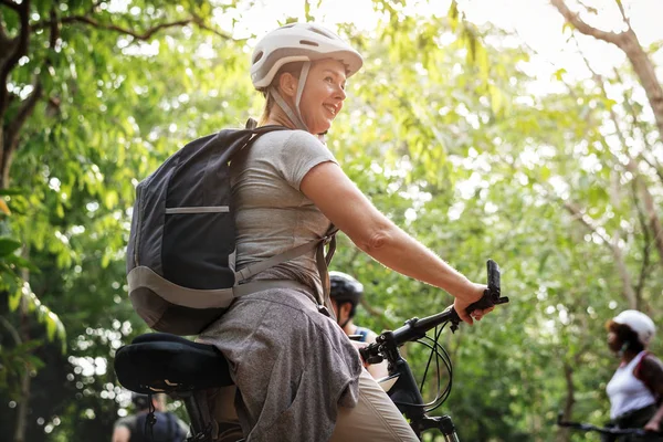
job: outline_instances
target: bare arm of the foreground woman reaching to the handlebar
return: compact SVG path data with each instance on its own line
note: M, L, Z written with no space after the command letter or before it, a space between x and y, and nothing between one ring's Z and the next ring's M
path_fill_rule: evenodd
M465 307L481 298L485 286L472 283L387 219L340 167L334 162L317 165L302 180L301 190L375 260L453 295L459 316L472 324Z

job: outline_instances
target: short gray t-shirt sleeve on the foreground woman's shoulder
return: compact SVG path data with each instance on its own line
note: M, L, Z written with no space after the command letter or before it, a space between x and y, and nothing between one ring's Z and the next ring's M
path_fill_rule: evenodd
M275 161L276 169L295 189L311 169L322 162L334 162L336 158L320 140L304 130L293 130Z

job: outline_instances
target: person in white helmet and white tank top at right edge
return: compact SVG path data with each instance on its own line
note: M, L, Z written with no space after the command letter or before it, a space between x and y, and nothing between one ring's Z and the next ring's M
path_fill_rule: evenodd
M646 351L654 323L638 311L624 311L606 324L608 346L620 356L620 366L606 388L614 427L661 431L663 420L663 364ZM609 440L609 439L606 439ZM631 441L624 436L620 441ZM660 435L638 441L663 441Z

